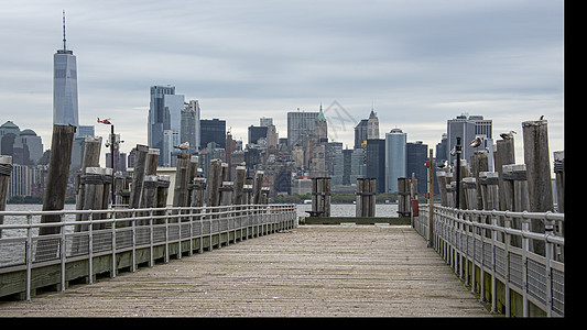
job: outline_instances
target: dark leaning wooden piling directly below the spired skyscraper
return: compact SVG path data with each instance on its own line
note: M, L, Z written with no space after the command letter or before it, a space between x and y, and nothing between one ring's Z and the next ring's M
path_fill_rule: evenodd
M63 210L65 205L65 191L67 189L67 178L69 176L69 163L72 162L72 144L74 142L74 125L53 125L51 142L51 156L48 161L48 173L45 182L45 196L43 198L43 211ZM41 223L61 222L58 215L45 215L41 217ZM42 227L39 235L59 233L59 227ZM52 245L53 246L53 245ZM48 246L47 246L48 249ZM56 253L57 244L48 254ZM39 256L40 251L37 251Z

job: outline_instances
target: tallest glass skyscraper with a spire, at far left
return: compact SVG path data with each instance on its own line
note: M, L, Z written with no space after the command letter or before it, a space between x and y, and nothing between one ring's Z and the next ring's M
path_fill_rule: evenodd
M53 124L79 127L77 105L77 64L65 43L63 12L63 50L53 55Z

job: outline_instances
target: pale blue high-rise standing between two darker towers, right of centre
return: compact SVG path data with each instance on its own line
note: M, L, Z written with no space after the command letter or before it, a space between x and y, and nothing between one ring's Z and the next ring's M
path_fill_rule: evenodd
M398 178L405 177L406 134L400 129L385 133L385 191L398 191Z

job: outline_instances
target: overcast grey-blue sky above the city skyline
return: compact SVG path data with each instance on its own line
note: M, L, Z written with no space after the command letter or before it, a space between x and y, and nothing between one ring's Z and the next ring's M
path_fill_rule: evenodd
M551 154L564 148L564 1L2 0L1 123L32 129L51 147L53 54L77 56L79 123L123 152L146 144L149 90L172 85L199 100L203 119L247 128L287 111L318 111L330 140L352 147L371 108L380 134L439 142L460 113L493 120L493 134L548 121ZM355 121L355 122L352 122ZM1 124L0 123L0 124ZM102 147L102 153L105 147ZM104 161L102 161L104 162ZM105 166L105 164L102 164Z

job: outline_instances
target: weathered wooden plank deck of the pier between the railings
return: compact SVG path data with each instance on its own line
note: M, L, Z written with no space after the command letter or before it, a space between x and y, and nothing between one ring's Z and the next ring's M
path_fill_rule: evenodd
M300 226L31 301L1 301L0 317L491 315L409 226Z

